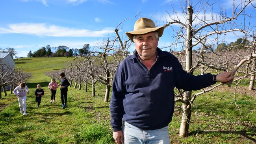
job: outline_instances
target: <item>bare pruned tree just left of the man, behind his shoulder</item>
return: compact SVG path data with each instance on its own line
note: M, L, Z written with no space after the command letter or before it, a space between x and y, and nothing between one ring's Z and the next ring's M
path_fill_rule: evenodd
M132 44L131 41L122 39L118 32L125 21L126 20L117 25L115 28L115 36L108 37L106 40L103 40L102 43L99 43L100 50L102 51L98 53L102 59L100 63L100 72L96 77L97 81L106 85L104 102L108 102L113 75L119 66L119 63L128 56L128 49Z

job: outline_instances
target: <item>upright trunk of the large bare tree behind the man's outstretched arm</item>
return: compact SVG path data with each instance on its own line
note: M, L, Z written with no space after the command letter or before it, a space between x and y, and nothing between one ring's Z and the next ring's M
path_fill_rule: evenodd
M193 9L192 6L187 7L187 37L186 37L186 71L192 67L192 14ZM191 91L186 92L185 96L183 97L184 101L191 100ZM189 129L189 122L191 117L191 107L188 109L186 108L189 103L182 103L182 120L180 124L180 137L187 137L188 129Z

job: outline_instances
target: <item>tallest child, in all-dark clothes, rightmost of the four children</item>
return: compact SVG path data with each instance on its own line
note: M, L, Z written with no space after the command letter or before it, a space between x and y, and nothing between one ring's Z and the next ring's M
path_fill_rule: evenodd
M65 78L64 72L59 73L59 77L61 78L61 84L58 84L58 85L61 85L60 95L61 95L62 109L65 109L65 107L67 107L67 94L68 94L68 87L70 83Z

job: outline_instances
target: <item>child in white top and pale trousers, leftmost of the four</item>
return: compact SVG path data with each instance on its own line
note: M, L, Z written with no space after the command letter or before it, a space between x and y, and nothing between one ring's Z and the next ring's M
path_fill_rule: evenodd
M26 86L26 83L20 82L19 86L13 90L13 93L16 94L18 97L20 113L26 116L27 115L26 113L27 93L29 94L29 90L28 90L28 87Z

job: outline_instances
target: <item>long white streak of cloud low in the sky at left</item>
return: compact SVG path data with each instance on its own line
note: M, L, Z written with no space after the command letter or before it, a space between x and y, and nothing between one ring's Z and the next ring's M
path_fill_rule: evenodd
M113 33L114 28L104 28L100 31L67 28L44 23L19 23L10 24L9 28L1 28L0 33L21 33L49 37L102 37Z

